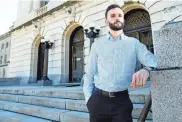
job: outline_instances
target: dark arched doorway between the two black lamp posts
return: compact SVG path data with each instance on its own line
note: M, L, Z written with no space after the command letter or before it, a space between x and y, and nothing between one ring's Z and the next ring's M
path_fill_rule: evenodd
M69 45L69 81L81 82L84 74L84 31L77 27L70 36Z

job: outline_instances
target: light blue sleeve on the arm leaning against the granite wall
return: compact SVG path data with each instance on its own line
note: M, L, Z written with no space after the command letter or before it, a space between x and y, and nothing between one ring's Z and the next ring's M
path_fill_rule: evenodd
M157 58L144 44L136 40L137 58L144 66L157 68Z

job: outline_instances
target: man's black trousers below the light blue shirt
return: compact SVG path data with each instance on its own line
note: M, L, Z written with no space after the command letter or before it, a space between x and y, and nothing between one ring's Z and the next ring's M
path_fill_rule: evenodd
M132 122L133 104L128 93L107 97L94 89L87 102L90 122Z

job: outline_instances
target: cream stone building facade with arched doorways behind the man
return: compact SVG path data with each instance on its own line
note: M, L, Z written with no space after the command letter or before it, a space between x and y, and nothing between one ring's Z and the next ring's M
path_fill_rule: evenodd
M95 23L101 28L98 39L107 34L105 10L113 3L125 13L125 34L138 38L153 53L156 52L152 34L170 22L182 20L180 1L20 1L17 19L10 30L6 76L21 77L22 85L36 83L42 76L41 39L51 38L54 44L49 50L48 77L53 85L80 81L90 51L84 29Z

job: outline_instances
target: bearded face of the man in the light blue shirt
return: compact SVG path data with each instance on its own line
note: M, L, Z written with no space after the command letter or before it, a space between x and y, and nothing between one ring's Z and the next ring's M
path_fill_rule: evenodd
M108 11L106 24L114 31L124 28L124 13L120 8L113 8Z

